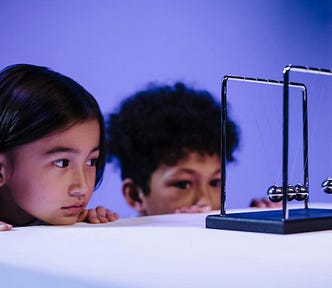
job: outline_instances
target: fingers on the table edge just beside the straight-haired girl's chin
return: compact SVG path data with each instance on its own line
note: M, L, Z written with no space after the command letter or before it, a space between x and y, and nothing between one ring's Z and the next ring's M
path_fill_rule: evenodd
M88 222L92 224L113 222L119 219L119 215L106 209L103 206L98 206L95 209L83 210L78 217L78 222Z

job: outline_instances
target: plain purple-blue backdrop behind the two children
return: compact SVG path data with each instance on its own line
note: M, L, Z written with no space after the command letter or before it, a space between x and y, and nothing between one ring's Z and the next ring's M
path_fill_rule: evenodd
M0 0L0 67L51 67L89 90L105 114L149 82L181 80L219 97L225 74L279 80L287 64L331 69L331 7L332 1L322 0ZM326 102L329 88L322 88L332 81L308 81L317 85L318 95L309 95L312 199L331 201L316 186L332 168L326 141L332 106ZM230 84L231 114L241 126L242 144L238 163L229 166L227 187L234 193L228 207L246 207L280 179L281 97L277 88ZM291 105L294 151L301 151L298 105ZM292 163L299 161L295 158ZM295 175L296 182L301 165L294 167L290 178ZM118 172L108 166L91 205L135 215L120 187Z

